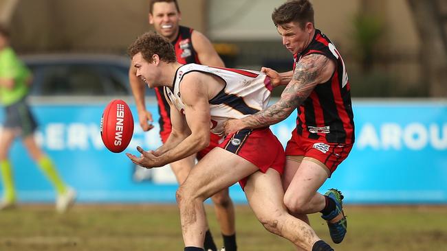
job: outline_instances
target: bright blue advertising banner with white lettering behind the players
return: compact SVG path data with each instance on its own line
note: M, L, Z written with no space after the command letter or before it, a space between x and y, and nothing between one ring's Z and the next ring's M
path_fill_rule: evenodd
M136 167L124 152L161 145L157 123L142 132L136 117L131 144L109 152L100 138L100 118L107 104L35 104L40 123L36 140L54 160L63 179L78 192L79 202L175 202L177 184L168 167ZM155 104L148 106L157 121ZM435 101L354 101L356 143L351 154L321 192L335 187L347 203L447 203L447 103ZM273 125L285 145L296 113ZM3 113L0 113L3 121ZM0 128L1 129L1 128ZM0 130L1 133L1 130ZM54 191L23 146L10 152L21 202L52 202ZM0 186L1 189L2 186ZM238 184L235 202L246 199Z

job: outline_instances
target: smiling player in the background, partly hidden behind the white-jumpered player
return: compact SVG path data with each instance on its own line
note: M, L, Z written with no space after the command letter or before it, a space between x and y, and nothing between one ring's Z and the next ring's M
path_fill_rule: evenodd
M153 25L158 34L164 36L173 44L178 62L182 64L203 63L215 67L224 67L221 58L219 58L219 55L212 47L208 38L194 29L179 25L181 13L177 1L151 0L149 4L149 23ZM144 131L147 131L153 128L153 125L150 124L153 120L151 112L146 110L144 104L144 84L140 83L141 80L135 76L135 71L135 68L130 67L129 80L133 97L135 97L140 126ZM160 136L164 143L171 133L171 119L169 118L171 111L164 97L163 88L156 87L154 90L160 115ZM210 145L197 153L197 159L202 158L213 147L216 147L220 139L220 136L211 134ZM193 156L171 163L171 169L179 184L184 182L190 169L193 168L195 158L196 155L194 154ZM226 251L236 251L235 209L228 189L219 191L219 193L212 196L211 200L215 206L217 220L223 237L223 246L225 246ZM206 250L217 250L209 230L206 231L205 248Z

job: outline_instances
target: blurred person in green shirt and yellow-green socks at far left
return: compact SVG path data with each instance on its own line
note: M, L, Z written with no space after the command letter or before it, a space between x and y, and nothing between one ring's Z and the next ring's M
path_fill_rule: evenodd
M56 210L63 213L74 203L76 193L67 187L58 175L52 160L34 141L33 133L37 124L25 100L30 83L30 71L10 47L8 29L0 25L0 104L5 108L6 118L0 136L0 169L4 193L0 210L14 207L17 201L8 154L14 139L21 136L28 154L56 189Z

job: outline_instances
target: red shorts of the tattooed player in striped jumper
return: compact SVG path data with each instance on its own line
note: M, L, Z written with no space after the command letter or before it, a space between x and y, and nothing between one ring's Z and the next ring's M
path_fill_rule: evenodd
M330 177L338 165L347 158L351 149L352 144L328 143L321 139L307 139L294 130L292 139L287 142L287 147L285 147L285 155L314 158L325 164Z

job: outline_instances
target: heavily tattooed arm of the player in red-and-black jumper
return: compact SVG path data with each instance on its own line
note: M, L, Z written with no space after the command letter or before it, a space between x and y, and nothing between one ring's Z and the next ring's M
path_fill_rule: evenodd
M334 61L320 54L311 54L296 63L292 80L285 87L276 104L243 119L230 120L225 125L229 134L245 128L263 128L283 121L301 106L315 86L327 82L336 68Z

